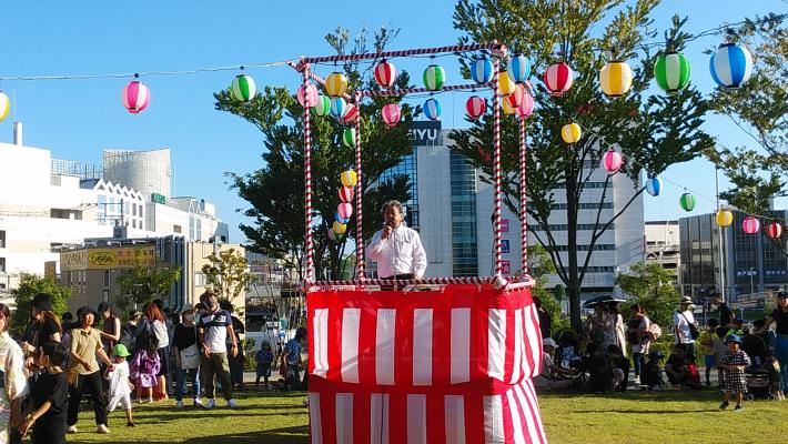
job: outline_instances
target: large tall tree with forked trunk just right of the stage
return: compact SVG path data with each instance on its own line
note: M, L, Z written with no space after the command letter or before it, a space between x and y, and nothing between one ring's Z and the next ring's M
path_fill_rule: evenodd
M696 158L713 144L711 138L700 130L708 103L695 88L674 95L649 91L656 53L644 43L656 36L649 13L658 3L658 0L627 4L623 0L459 0L454 12L454 24L464 32L463 43L506 42L512 51L531 58L536 73L544 72L559 51L576 72L572 89L563 98L550 98L544 85L535 82L538 107L527 121L527 211L541 225L539 231L533 231L534 236L546 246L557 275L566 285L572 325L577 331L582 326L580 285L595 245L643 193L641 174L659 174L670 164ZM674 18L665 32L666 43L669 41L678 50L688 38L681 31L685 21ZM633 65L633 87L623 98L607 98L598 85L597 73L612 58L627 60ZM582 124L585 132L574 145L563 143L560 138L560 128L570 120ZM493 118L487 114L471 123L469 130L453 134L455 148L492 176ZM502 118L502 159L507 178L504 200L515 212L519 199L516 124L514 119ZM596 223L580 233L578 214L589 211L580 208L580 195L612 147L626 159L619 174L629 176L636 190L613 211L603 211L602 203L613 179L607 175L602 189L594 190L594 195L599 196L596 210L592 210ZM557 202L562 206L565 202L566 206L565 246L556 240L549 223Z

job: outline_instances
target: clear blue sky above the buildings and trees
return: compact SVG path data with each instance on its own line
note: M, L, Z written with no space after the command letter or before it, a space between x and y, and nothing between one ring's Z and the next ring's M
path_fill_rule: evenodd
M0 75L175 71L330 54L323 37L336 26L350 30L385 24L401 28L392 49L452 44L459 34L452 28L453 7L448 0L6 1L0 9L4 19ZM769 10L786 12L788 6L780 0L667 0L654 19L664 29L674 13L687 14L688 30L700 31ZM704 92L711 90L713 81L703 50L720 39L705 38L687 50L693 82ZM413 70L424 61L414 63ZM449 75L456 72L449 60L442 63ZM299 82L290 68L260 68L249 73L259 87L294 90ZM234 75L229 71L143 78L152 99L139 115L129 114L120 103L120 91L131 79L4 81L0 89L16 94L16 105L0 122L0 141L12 140L16 113L24 123L26 144L49 149L59 159L98 164L103 149L168 147L174 161L174 194L214 202L220 218L231 226L231 241L239 242L242 218L234 210L246 204L228 190L223 173L259 168L263 140L252 124L213 109L212 92L225 88ZM464 95L444 99L444 128L462 123L463 101ZM724 117L710 119L707 131L723 145L750 143ZM674 165L664 178L665 193L646 199L646 220L680 216L683 186L698 193L696 212L714 209L713 200L705 199L715 192L714 168L708 162Z

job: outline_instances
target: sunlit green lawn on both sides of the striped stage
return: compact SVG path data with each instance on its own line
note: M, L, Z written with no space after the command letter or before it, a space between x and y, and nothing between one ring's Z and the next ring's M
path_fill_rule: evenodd
M174 410L166 404L134 405L138 426L125 427L123 414L110 415L110 435L99 435L93 413L80 413L80 433L70 443L251 444L307 443L305 396L252 393L230 411ZM627 392L616 396L541 396L552 443L734 444L781 443L788 436L788 401L745 404L720 412L716 391Z

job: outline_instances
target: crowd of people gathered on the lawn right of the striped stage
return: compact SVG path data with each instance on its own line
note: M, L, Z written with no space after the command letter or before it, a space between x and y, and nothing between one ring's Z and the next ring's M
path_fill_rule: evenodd
M625 322L616 302L597 303L582 335L567 330L556 341L543 327L543 365L534 385L541 391L575 387L610 393L627 390L632 381L643 390L697 390L713 387L716 373L717 387L725 396L720 410L736 401L734 411L740 412L748 396L781 401L788 387L788 292L778 293L776 302L768 316L746 327L716 294L711 303L718 317L707 319L701 327L691 299L683 297L673 316L667 360L659 350L651 350L661 329L644 307L633 304Z

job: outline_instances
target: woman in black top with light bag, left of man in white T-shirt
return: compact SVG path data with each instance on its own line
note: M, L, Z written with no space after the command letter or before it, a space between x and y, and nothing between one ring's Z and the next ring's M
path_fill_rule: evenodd
M181 309L182 322L175 325L173 344L175 349L175 367L178 379L175 383L176 408L183 408L183 390L186 385L186 376L194 387L195 407L202 406L200 396L200 345L198 342L196 324L194 323L194 309L192 304L183 305Z

